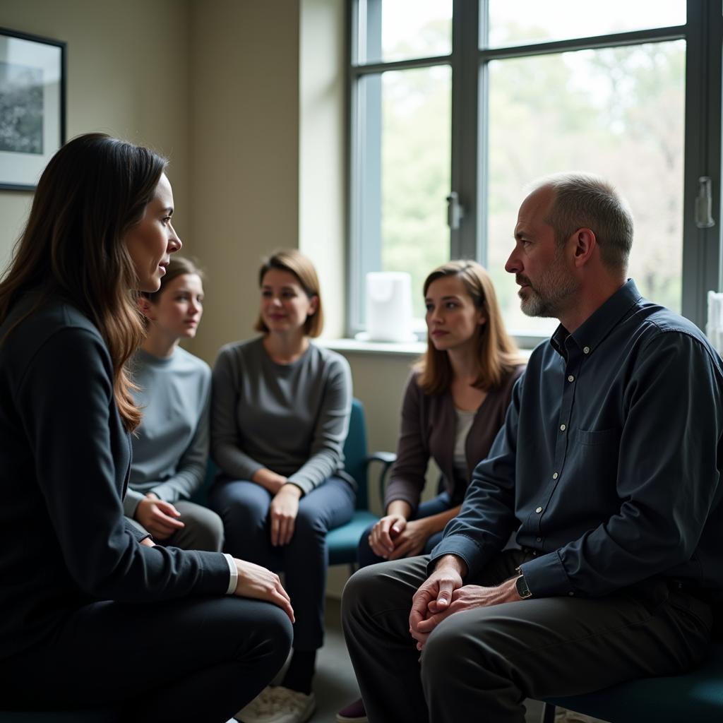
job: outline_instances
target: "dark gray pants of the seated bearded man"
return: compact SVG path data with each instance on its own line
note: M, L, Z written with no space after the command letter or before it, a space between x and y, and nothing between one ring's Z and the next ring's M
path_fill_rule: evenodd
M497 585L531 557L502 552L469 582ZM408 618L428 560L363 568L344 589L344 636L371 723L523 723L525 698L677 675L696 667L709 643L709 605L656 579L601 599L533 598L457 612L420 656Z

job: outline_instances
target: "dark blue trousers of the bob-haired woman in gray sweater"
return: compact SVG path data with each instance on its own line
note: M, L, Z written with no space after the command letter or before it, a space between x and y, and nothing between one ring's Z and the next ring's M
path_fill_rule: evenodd
M324 643L324 595L329 553L326 534L351 520L354 490L330 477L299 500L294 536L272 547L268 525L272 495L245 480L219 482L209 495L221 515L226 552L284 573L284 586L294 606L294 650L315 651Z

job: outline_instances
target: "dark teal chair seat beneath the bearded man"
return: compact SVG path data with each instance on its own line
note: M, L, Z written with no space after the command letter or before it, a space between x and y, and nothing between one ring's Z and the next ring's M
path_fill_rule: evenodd
M701 667L686 675L632 680L595 693L544 702L542 723L554 721L556 706L609 723L723 721L723 643L713 643Z

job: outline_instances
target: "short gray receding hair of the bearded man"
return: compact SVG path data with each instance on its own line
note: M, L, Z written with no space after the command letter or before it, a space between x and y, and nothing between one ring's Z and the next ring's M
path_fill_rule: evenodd
M545 221L562 245L578 228L590 228L609 269L627 270L633 246L633 216L615 187L599 176L584 173L555 174L540 179L535 189L550 188L555 200Z

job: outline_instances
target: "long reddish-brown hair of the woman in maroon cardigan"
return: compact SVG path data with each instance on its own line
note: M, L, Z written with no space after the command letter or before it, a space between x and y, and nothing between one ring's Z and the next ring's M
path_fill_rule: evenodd
M523 364L523 360L517 345L505 330L492 279L476 261L450 261L437 267L424 280L424 296L427 296L429 286L434 281L446 276L456 276L463 283L475 307L484 312L487 322L479 325L476 333L478 371L474 386L484 391L496 389L514 367ZM427 351L414 365L414 371L419 375L417 383L425 394L445 393L452 383L449 354L437 350L429 335Z

